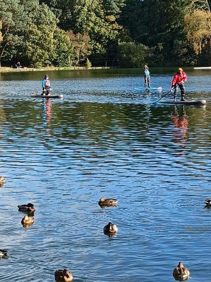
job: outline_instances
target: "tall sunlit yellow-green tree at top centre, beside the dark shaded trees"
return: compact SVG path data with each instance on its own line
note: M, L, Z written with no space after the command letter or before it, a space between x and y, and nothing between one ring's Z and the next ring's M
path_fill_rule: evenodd
M49 3L49 0L43 1ZM50 2L53 9L62 12L59 18L60 28L72 30L74 34L86 33L89 35L93 46L91 60L95 65L104 60L109 42L118 41L119 34L123 33L123 27L116 22L116 17L120 13L120 7L124 1L104 2L109 4L110 10L107 11L103 6L103 0L54 0ZM114 4L116 9L112 14L112 5Z

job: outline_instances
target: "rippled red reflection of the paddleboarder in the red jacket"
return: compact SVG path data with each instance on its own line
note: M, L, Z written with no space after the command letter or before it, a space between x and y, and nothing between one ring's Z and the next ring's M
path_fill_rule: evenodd
M174 106L172 112L172 120L178 130L173 131L175 137L174 142L183 144L188 138L188 115L186 114L185 107Z

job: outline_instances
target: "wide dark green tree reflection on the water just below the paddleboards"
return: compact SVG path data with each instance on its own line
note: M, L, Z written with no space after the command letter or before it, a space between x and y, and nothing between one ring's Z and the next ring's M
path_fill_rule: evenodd
M17 137L46 138L44 133L48 127L54 143L63 144L65 141L65 144L72 144L83 139L84 145L103 144L105 146L102 148L107 149L109 142L123 142L124 145L131 142L150 143L152 146L153 141L153 144L165 145L172 121L178 128L177 133L181 134L175 140L183 138L185 142L188 138L188 112L191 115L189 130L193 130L199 119L202 127L206 124L206 120L203 122L206 119L204 110L190 107L46 101L43 110L42 104L41 101L10 100L8 107L4 108L4 119L9 124L9 130ZM44 145L48 146L48 143Z

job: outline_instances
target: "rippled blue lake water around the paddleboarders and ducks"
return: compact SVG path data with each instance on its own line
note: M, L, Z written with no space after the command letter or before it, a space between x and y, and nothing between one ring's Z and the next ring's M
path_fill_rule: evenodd
M0 281L52 282L61 268L76 282L173 281L182 261L210 282L211 72L185 70L186 99L207 106L153 104L176 68L150 69L163 92L135 91L140 69L49 71L64 95L52 101L30 97L45 73L0 75Z

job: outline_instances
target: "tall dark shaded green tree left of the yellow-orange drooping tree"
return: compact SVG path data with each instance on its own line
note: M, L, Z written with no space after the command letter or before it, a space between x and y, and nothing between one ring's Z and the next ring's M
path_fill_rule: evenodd
M191 4L192 0L127 0L119 21L135 41L153 48L156 64L177 64L175 48L186 40L184 16Z

